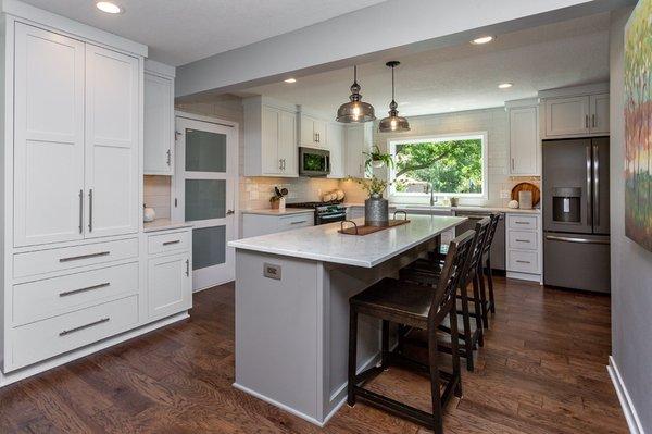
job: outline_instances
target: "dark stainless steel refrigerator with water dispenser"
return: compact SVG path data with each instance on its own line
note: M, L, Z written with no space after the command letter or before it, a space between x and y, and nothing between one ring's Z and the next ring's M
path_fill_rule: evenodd
M543 282L610 292L609 138L543 141Z

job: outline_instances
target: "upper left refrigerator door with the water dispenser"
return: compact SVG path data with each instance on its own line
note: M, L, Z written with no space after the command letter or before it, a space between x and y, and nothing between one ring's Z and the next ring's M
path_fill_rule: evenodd
M590 234L591 218L591 140L556 140L543 142L543 228L554 232ZM555 188L579 191L579 221L554 221ZM560 191L560 190L556 190ZM566 195L566 193L557 193ZM563 199L557 199L563 200ZM569 203L573 207L574 203ZM559 219L557 219L559 220Z

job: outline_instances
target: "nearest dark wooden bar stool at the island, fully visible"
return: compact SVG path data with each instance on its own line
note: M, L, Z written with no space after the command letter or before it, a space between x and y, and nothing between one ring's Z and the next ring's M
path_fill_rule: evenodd
M417 285L393 278L384 278L362 293L351 297L349 320L349 384L348 404L355 405L356 398L403 418L422 423L443 433L442 408L453 393L462 396L460 356L457 352L457 315L455 314L455 290L472 252L474 231L467 231L451 241L437 286ZM362 313L383 320L381 363L356 374L358 315ZM439 369L437 357L437 327L450 314L450 328L453 336L452 373ZM397 351L389 351L389 323L398 323L421 328L428 335L428 364L405 358ZM377 376L391 364L403 364L427 373L430 380L432 412L419 410L375 392L364 388L364 384ZM446 381L443 393L440 380Z

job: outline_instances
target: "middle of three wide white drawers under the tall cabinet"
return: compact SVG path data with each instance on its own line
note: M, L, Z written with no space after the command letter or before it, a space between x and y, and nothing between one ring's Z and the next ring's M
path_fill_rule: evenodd
M138 290L138 262L13 287L13 324L24 325Z

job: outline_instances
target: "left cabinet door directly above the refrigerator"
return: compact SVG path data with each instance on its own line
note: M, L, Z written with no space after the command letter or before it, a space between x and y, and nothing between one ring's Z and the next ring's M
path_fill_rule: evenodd
M546 135L573 136L589 133L589 97L546 100Z

